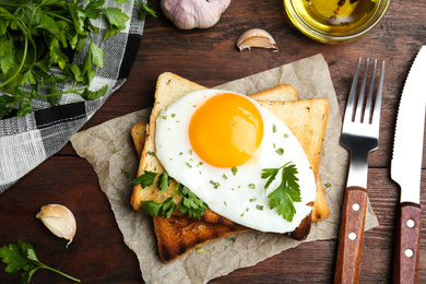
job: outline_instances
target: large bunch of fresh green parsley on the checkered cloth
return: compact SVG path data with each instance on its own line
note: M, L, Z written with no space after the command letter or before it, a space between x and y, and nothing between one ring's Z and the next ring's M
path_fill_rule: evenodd
M155 16L145 4L137 2ZM47 97L54 106L64 93L80 94L84 99L106 94L107 85L88 90L95 67L104 67L104 50L92 40L92 34L99 33L92 21L105 19L104 39L108 39L126 27L129 16L119 8L104 5L105 0L0 1L0 117L10 115L15 105L17 116L29 114L34 98ZM86 42L84 62L70 63L70 50L82 52ZM54 67L63 72L52 72ZM72 86L59 92L58 85L67 82L73 82Z

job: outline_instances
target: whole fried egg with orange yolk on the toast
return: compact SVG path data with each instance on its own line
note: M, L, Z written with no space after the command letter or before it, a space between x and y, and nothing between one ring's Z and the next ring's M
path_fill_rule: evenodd
M156 156L170 177L189 188L215 213L270 233L293 232L310 213L316 180L296 137L274 114L241 94L202 90L163 109L156 120ZM300 202L292 222L270 208L262 169L292 163Z

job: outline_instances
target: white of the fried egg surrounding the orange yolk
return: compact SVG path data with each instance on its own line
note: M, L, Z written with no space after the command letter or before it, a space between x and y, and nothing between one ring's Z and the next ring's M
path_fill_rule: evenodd
M193 113L221 90L196 91L175 100L162 111L156 120L156 156L169 176L188 187L217 214L240 225L271 233L293 232L310 213L317 187L308 157L288 127L256 100L263 119L263 139L255 156L238 166L234 175L232 168L221 168L203 162L192 150L188 128ZM277 150L284 150L280 155ZM279 151L280 152L280 151ZM262 169L279 168L286 163L296 165L301 202L294 202L296 215L292 222L270 209L268 196L281 184L281 171L270 185L261 178Z

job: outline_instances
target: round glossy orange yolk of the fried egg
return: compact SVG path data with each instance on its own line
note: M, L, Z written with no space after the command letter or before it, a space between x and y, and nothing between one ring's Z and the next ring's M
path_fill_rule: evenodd
M193 151L205 163L236 167L248 162L259 147L263 121L249 99L223 93L196 110L188 134Z

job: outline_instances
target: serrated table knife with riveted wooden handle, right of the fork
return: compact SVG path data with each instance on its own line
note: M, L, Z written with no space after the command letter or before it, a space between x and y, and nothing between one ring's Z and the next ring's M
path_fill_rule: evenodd
M409 72L398 110L391 178L401 187L393 283L417 283L421 245L421 174L425 129L426 46Z

